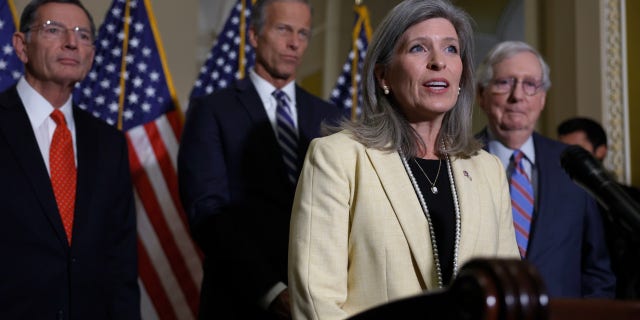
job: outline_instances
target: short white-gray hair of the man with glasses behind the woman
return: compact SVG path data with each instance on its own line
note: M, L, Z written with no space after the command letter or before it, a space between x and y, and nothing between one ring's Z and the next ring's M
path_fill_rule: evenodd
M478 90L482 92L487 86L489 86L489 83L493 79L493 66L522 52L531 52L536 56L536 58L538 58L540 68L542 69L542 88L544 91L549 90L549 88L551 88L549 65L544 61L544 58L542 58L542 55L538 50L522 41L501 42L487 53L482 60L482 63L478 66Z

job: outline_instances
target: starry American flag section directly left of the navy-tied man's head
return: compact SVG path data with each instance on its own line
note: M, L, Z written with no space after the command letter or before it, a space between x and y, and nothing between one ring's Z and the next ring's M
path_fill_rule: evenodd
M255 63L255 52L249 44L249 18L255 0L238 0L231 10L222 32L200 68L191 98L226 88L242 79Z

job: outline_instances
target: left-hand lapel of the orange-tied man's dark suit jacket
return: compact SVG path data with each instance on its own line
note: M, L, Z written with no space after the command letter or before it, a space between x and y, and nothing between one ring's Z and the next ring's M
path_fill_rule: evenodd
M55 230L58 240L67 247L67 236L53 195L49 173L31 128L29 117L15 86L0 97L0 131L21 164L42 212ZM25 212L25 214L33 214Z

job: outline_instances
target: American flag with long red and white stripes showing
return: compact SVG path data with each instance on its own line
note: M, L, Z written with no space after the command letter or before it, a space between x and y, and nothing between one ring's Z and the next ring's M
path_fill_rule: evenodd
M136 196L144 319L195 319L202 256L178 196L181 113L149 0L114 0L74 101L125 131Z

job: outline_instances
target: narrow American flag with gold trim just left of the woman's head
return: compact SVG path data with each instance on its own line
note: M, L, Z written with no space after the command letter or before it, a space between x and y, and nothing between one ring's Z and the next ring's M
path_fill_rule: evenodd
M338 82L331 91L330 100L339 108L350 111L351 119L356 119L362 105L361 74L369 39L371 39L371 25L366 6L355 5L353 10L356 17L351 51L342 67Z

